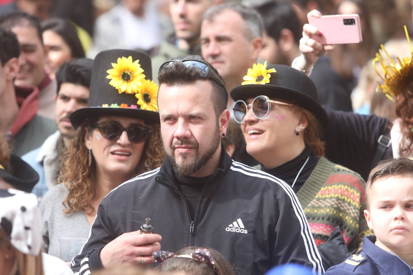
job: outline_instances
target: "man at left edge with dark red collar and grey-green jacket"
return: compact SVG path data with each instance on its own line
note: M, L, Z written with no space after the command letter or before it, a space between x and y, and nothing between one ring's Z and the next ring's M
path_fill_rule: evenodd
M40 146L55 132L52 120L37 114L36 87L19 87L19 42L16 35L0 27L0 134L7 135L12 153L21 156Z

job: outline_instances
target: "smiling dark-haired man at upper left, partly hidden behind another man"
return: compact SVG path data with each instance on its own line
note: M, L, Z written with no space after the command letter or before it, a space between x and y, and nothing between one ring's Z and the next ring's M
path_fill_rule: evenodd
M46 49L40 21L25 12L12 12L0 17L0 26L12 31L19 41L19 72L15 84L39 89L38 114L54 118L56 82L46 74Z

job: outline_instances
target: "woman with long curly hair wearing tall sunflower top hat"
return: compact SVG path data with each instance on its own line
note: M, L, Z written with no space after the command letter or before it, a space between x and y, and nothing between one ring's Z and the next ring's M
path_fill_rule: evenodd
M61 244L86 241L102 199L121 183L161 166L158 88L149 80L151 72L150 57L140 52L109 50L96 56L89 107L70 116L76 136L63 156L61 184L40 204L48 254L70 261L81 244L66 251Z

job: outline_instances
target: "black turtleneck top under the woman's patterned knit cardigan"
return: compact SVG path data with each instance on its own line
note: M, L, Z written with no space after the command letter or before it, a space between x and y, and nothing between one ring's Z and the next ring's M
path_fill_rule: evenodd
M314 168L318 163L318 160L320 159L319 157L311 154L311 150L309 147L306 146L306 148L304 148L301 154L299 154L297 157L273 169L265 169L264 166L261 164L261 170L268 174L276 176L278 179L282 179L286 183L290 184L290 186L292 186L295 177L297 176L301 167L303 167L307 158L309 158L309 161L302 169L297 181L294 184L294 187L292 188L294 192L297 193L298 190L300 190L300 188L309 178L311 172L313 172Z

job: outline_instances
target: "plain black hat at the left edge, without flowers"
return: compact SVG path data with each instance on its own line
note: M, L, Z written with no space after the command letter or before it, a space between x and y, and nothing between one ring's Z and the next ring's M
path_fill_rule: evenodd
M0 165L0 178L14 188L31 193L39 181L39 174L27 162L16 155L10 155L10 172Z

